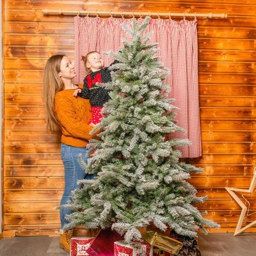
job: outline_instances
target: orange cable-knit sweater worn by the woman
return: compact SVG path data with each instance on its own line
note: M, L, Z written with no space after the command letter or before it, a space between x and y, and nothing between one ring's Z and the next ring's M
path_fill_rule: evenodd
M92 118L89 100L74 97L75 89L62 90L54 97L54 111L61 124L61 142L73 147L86 147L88 140L95 139L89 134Z

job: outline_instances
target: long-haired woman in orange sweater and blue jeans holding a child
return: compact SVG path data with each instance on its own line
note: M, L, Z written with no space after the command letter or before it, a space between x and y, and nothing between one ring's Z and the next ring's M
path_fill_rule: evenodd
M72 83L76 76L74 65L65 55L54 55L47 60L44 71L44 100L46 106L47 129L52 132L61 130L61 159L65 169L65 189L61 198L61 205L66 204L71 191L79 188L77 180L92 179L92 175L85 175L78 163L79 154L87 162L88 140L95 137L89 133L93 126L88 125L92 118L90 102L73 93L78 88ZM70 250L72 230L63 230L68 223L65 216L70 209L60 210L61 230L60 245Z

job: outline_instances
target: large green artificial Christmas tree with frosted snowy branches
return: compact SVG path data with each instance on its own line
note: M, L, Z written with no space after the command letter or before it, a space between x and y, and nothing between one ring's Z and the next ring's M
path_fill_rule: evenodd
M81 180L70 198L73 213L68 227L111 227L124 234L125 242L141 239L140 227L154 224L160 230L172 228L182 236L196 237L204 225L218 227L202 218L192 204L203 202L186 179L200 168L179 162L175 147L186 140L164 140L164 135L182 131L173 118L176 109L164 92L168 74L156 56L156 44L147 44L143 35L148 18L142 24L132 21L124 26L131 41L123 40L119 63L111 68L113 81L105 86L111 99L102 110L104 118L95 127L101 140L90 141L93 154L86 173L95 179Z

